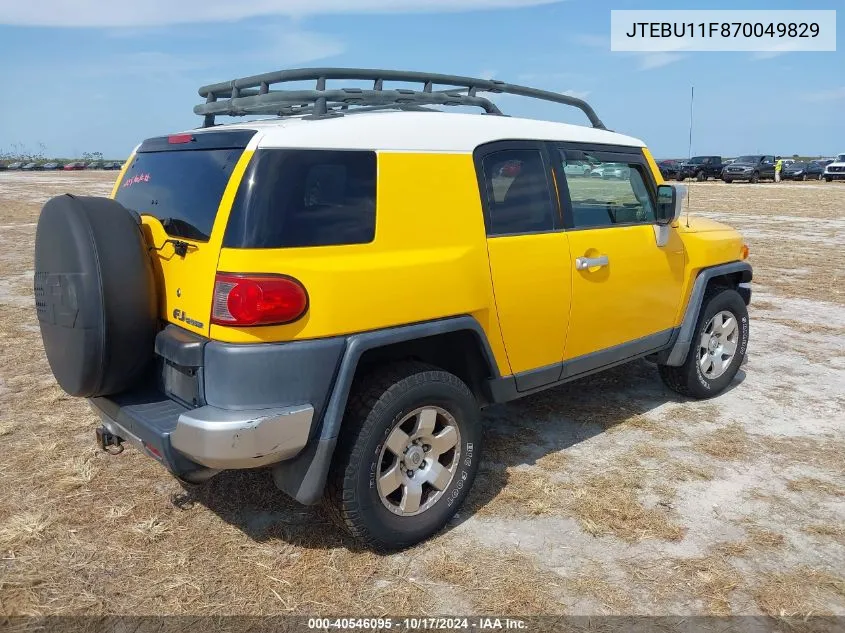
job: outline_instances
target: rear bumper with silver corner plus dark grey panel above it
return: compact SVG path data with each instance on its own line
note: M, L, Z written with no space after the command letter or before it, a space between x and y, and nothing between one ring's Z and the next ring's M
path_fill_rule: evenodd
M144 386L92 398L103 426L174 474L290 460L319 435L344 339L227 344L170 325Z

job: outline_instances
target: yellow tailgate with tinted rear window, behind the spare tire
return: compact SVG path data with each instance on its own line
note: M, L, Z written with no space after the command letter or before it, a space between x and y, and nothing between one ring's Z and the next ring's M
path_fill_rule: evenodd
M233 130L149 139L115 185L113 197L141 214L162 320L203 336L226 220L254 134Z

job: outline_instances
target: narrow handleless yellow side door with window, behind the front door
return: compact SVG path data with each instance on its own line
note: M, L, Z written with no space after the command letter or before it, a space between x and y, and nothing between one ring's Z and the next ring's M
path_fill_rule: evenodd
M499 326L517 389L560 378L569 321L570 259L543 143L475 153Z

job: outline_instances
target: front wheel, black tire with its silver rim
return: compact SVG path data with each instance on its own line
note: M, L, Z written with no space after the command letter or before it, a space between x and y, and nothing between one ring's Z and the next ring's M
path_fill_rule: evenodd
M684 364L659 365L660 377L667 387L681 395L712 398L731 384L747 347L745 301L733 288L708 290Z

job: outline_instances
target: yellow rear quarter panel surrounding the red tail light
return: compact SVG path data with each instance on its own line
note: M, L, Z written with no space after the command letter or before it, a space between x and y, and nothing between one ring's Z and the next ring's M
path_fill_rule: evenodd
M322 338L469 314L484 328L499 370L509 373L476 183L469 154L379 153L375 240L222 249L218 270L291 275L307 289L310 307L289 325L213 325L211 338L237 343Z

